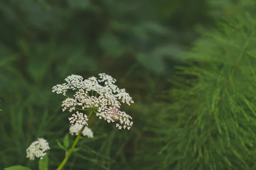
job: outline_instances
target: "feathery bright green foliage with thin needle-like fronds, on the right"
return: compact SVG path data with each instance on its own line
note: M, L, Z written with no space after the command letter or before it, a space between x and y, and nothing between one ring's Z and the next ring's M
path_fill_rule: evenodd
M173 104L158 106L164 109L149 130L164 144L163 159L151 169L256 169L255 15L218 25L196 41L190 66L177 67Z

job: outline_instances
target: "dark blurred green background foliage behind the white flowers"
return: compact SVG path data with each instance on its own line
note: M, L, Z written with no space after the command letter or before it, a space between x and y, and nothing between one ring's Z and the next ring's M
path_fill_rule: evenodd
M64 169L175 169L168 163L172 157L159 154L173 133L172 120L165 119L173 98L165 91L172 89L174 66L186 66L183 56L201 33L244 11L243 2L1 0L0 169L20 164L36 170L26 148L41 137L49 141L55 169L64 158L56 138L68 133L69 113L61 111L63 96L52 93L52 86L71 74L87 78L102 72L134 99L123 107L134 126L117 130L92 117L95 138L81 140L82 149Z

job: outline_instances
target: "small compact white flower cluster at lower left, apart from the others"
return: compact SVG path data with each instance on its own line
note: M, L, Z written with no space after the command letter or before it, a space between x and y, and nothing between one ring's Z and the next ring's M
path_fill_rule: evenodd
M37 141L32 142L29 148L26 150L27 156L30 160L35 160L35 157L43 159L46 155L46 151L49 150L49 144L44 138L38 138Z

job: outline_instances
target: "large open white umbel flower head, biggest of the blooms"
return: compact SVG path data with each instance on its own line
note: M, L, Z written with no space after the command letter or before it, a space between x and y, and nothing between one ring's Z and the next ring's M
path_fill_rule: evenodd
M69 110L87 110L93 109L99 118L110 122L119 120L116 127L122 127L128 130L133 122L130 121L131 116L125 112L119 111L121 102L130 105L134 103L130 95L125 92L125 89L119 89L114 83L116 79L105 73L99 74L99 78L90 77L86 80L80 75L70 75L65 78L67 83L58 84L52 87L52 92L66 95L66 92L71 89L75 91L73 98L67 98L62 102L63 111ZM114 112L113 112L114 111ZM70 123L87 125L87 115L76 112L69 118Z

